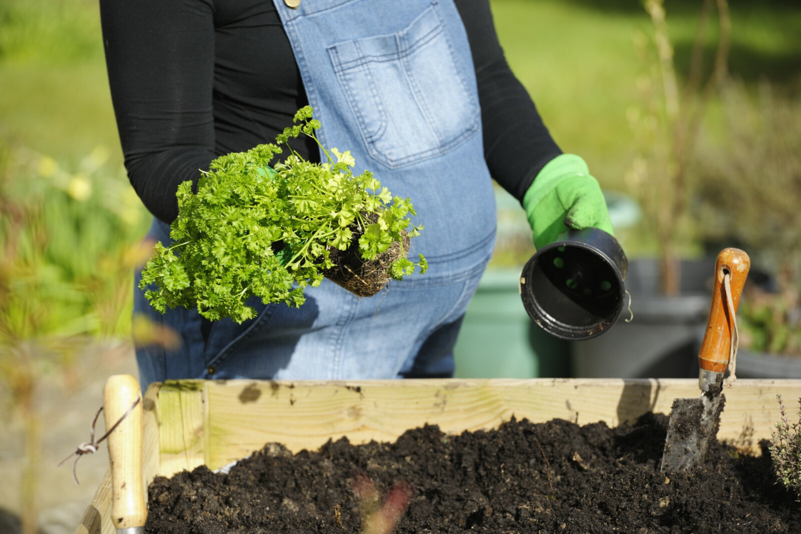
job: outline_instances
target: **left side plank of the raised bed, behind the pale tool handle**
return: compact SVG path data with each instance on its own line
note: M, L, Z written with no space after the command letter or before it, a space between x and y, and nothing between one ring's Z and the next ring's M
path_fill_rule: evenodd
M147 486L159 471L159 423L155 416L155 406L159 396L160 383L153 383L144 395L142 414L142 475L147 498ZM111 523L111 470L106 470L92 503L83 512L75 534L116 534Z

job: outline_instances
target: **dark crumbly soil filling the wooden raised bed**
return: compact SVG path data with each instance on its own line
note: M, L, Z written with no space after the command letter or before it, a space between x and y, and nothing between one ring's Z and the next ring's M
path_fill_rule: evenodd
M666 422L513 420L461 436L426 427L395 444L339 440L296 456L270 445L228 475L201 467L156 479L146 532L357 533L363 476L382 495L409 484L398 533L801 532L801 504L774 484L767 451L715 445L706 468L659 472Z

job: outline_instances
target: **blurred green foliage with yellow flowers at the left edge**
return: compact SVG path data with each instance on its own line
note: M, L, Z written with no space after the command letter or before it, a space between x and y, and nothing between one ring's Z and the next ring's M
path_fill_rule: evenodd
M127 335L135 248L149 221L127 179L109 172L102 148L72 170L0 151L0 359L30 340Z

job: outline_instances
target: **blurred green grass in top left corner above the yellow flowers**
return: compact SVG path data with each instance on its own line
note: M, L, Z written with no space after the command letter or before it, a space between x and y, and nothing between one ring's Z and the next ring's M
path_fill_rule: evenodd
M98 2L0 2L0 139L66 164L102 145L122 163Z

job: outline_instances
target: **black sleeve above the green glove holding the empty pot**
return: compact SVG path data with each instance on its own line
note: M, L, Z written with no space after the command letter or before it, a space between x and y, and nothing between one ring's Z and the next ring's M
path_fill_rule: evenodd
M522 202L551 159L562 154L515 78L498 42L489 0L455 0L476 67L484 156L493 179Z

